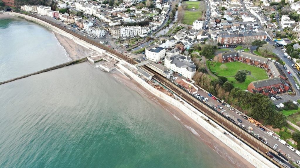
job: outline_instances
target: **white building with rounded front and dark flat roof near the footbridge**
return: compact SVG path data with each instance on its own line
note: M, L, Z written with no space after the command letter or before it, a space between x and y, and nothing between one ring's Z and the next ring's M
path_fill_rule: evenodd
M159 47L158 45L152 44L145 49L146 58L150 61L159 61L166 55L166 48Z

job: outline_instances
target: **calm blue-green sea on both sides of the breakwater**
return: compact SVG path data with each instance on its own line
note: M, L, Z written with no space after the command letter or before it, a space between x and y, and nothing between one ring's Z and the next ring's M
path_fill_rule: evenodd
M0 81L69 61L54 34L0 18ZM149 98L84 62L0 85L0 167L233 167Z

